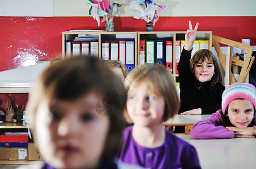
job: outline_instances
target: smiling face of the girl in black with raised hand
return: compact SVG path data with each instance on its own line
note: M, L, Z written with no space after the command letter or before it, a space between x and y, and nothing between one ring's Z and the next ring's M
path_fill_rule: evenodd
M208 82L214 75L214 64L210 63L207 59L202 63L198 62L194 66L195 77L200 82Z

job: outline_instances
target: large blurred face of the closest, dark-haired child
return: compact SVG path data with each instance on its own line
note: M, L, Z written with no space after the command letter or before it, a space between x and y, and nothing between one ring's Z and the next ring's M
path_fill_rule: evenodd
M99 164L109 118L95 110L100 97L87 94L74 101L42 100L36 112L36 134L45 161L56 168L94 168Z

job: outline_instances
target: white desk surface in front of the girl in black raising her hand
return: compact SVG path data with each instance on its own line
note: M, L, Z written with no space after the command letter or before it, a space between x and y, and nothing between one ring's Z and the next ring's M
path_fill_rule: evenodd
M185 126L187 124L194 124L198 121L203 121L204 119L210 118L211 114L202 115L181 115L176 114L174 118L168 119L164 122L164 126Z

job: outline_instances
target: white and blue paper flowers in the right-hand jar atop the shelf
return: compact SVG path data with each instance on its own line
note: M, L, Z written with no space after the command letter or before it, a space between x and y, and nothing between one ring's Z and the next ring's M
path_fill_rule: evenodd
M165 8L165 6L154 5L153 0L131 1L129 7L135 11L133 16L135 19L144 19L147 23L152 21L153 25L159 20L159 12Z

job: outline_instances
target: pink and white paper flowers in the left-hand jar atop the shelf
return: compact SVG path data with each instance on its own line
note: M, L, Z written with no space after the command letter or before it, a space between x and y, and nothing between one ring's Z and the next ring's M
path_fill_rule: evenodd
M89 0L89 3L87 4L91 5L89 15L92 16L94 20L96 19L98 26L100 26L100 17L103 17L101 22L113 22L114 13L120 15L118 7L122 6L122 2L117 0L103 0L101 2Z

